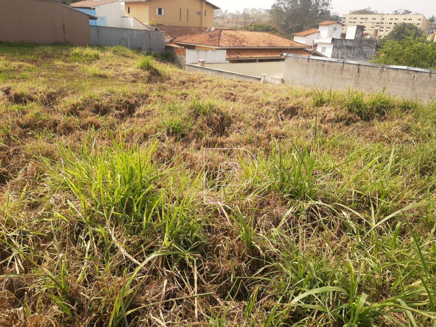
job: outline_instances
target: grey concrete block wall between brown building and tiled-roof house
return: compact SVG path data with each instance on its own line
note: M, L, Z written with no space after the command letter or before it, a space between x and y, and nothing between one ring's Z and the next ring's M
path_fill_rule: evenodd
M165 32L90 26L92 45L122 45L143 52L165 52Z

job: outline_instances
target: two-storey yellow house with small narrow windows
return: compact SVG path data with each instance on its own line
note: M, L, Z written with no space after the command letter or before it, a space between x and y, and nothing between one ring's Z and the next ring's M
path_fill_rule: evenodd
M143 24L212 27L214 9L205 0L126 0L125 15Z

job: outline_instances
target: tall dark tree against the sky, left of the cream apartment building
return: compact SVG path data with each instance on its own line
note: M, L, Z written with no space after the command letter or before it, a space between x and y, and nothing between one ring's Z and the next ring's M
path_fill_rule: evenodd
M312 27L320 17L330 16L331 0L275 0L273 20L285 34Z

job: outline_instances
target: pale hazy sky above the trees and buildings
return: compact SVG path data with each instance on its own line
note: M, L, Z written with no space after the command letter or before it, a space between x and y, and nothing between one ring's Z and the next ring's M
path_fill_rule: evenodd
M236 11L244 8L270 8L274 0L209 0L223 10ZM395 9L409 9L429 17L436 15L435 0L332 0L333 11L348 14L350 10L371 7L378 12L392 12Z

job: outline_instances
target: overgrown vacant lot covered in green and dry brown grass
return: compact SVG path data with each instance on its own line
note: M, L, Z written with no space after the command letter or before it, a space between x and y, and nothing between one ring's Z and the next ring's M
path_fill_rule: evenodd
M436 103L0 44L0 110L2 326L435 325Z

